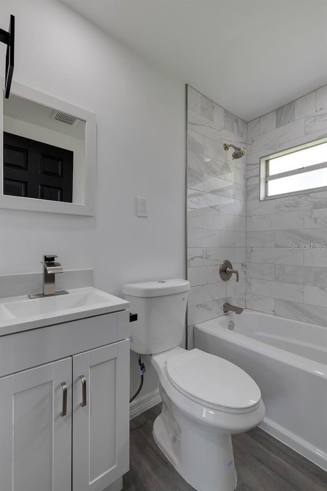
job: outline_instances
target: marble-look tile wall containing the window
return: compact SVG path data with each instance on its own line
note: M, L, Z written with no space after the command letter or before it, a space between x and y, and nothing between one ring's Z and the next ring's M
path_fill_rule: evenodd
M327 191L259 202L259 161L263 155L325 136L327 85L247 124L246 305L323 326ZM301 242L326 245L289 246Z

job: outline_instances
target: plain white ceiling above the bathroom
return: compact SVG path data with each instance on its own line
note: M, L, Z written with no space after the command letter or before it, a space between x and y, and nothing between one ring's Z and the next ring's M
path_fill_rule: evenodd
M245 121L327 83L327 0L61 0Z

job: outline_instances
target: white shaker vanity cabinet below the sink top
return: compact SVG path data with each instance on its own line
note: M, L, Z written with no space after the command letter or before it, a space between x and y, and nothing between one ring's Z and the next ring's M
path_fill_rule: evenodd
M1 491L121 489L128 336L123 310L0 337Z

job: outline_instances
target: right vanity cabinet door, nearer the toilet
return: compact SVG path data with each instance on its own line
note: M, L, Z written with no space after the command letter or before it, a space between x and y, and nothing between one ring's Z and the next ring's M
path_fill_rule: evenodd
M129 468L129 340L73 356L73 414L73 491L102 491Z

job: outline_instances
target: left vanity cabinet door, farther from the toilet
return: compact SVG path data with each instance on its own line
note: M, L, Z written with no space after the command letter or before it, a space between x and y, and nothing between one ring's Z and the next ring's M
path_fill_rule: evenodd
M1 491L70 491L71 442L72 358L0 379Z

